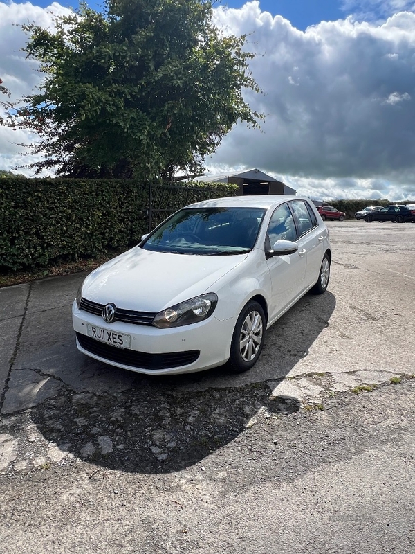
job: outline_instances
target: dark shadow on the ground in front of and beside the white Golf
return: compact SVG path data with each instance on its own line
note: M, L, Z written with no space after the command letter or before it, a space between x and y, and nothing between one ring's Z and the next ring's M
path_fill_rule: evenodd
M222 366L202 373L147 376L74 352L89 370L105 371L109 386L97 391L61 382L59 393L33 406L31 418L50 443L96 465L146 474L183 470L259 419L300 409L297 398L272 391L307 355L334 308L330 292L306 295L267 331L261 358L241 375ZM120 377L128 379L121 388L116 386Z

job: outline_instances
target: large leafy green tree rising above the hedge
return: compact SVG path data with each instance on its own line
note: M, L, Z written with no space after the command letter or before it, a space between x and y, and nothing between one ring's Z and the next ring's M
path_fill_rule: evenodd
M223 35L212 15L211 0L106 0L56 17L53 31L25 25L45 78L8 125L39 134L31 167L171 180L201 172L237 120L257 127L246 36Z

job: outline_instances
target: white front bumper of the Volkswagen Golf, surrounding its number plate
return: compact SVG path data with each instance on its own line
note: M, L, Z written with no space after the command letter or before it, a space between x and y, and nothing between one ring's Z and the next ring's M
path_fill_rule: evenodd
M236 318L219 321L213 316L192 325L158 329L152 325L106 323L100 316L72 307L77 348L106 364L147 375L192 373L221 366L229 359ZM129 334L131 348L122 349L88 337L87 325Z

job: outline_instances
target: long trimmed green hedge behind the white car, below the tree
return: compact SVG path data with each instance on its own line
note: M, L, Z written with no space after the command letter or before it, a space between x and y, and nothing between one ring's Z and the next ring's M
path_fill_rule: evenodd
M216 190L214 194L205 190L205 198L233 196L237 192L237 186L231 184L197 186ZM34 269L59 260L127 249L147 232L148 198L148 186L130 180L3 177L0 269ZM197 199L201 199L200 194ZM159 207L173 213L194 202L194 194L181 189L174 202L166 205L167 200L166 195L163 206L162 197Z

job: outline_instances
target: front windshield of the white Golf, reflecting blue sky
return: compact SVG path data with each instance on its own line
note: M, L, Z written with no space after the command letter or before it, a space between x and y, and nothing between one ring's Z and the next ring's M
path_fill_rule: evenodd
M141 248L205 256L252 250L264 208L184 208L151 233Z

